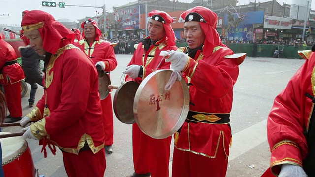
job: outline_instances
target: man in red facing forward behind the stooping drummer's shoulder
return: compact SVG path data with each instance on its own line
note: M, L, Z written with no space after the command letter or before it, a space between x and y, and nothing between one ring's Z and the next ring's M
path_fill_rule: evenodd
M108 41L100 39L102 33L96 21L89 19L81 24L81 28L83 28L84 39L74 43L74 45L85 52L92 59L96 67L98 66L107 73L113 71L117 66L113 45ZM105 151L113 153L114 120L112 97L110 94L101 100L100 103L104 118Z

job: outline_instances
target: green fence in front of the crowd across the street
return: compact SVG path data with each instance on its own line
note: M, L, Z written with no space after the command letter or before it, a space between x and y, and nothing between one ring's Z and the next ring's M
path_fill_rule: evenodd
M226 44L235 53L246 53L248 57L252 57L253 44ZM186 47L187 43L176 43L177 47ZM284 58L299 58L302 59L297 53L299 50L311 50L311 46L281 46L271 44L257 44L257 57L273 57L275 49L280 53L280 50L284 47Z

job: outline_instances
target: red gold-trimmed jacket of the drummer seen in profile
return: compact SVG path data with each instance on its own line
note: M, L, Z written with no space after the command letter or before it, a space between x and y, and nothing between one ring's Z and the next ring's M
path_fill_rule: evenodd
M27 116L45 118L43 132L61 150L78 154L87 142L96 154L104 148L97 71L93 62L69 43L51 56L44 95Z

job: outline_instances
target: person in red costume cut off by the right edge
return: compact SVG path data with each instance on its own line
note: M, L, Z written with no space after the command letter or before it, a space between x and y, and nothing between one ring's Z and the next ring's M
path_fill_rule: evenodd
M262 177L315 177L315 46L275 98L267 120L271 165Z

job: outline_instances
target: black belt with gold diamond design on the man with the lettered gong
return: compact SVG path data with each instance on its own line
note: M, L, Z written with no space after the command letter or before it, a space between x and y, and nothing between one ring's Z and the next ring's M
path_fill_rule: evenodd
M205 115L205 116L214 115L214 116L219 117L221 119L217 120L217 121L214 121L214 122L211 122L211 121L208 121L208 120L198 120L198 119L192 117L192 116L196 116L198 114L202 114L202 115ZM188 115L187 115L187 118L186 118L185 121L186 122L192 122L192 123L203 122L203 123L213 123L213 124L226 124L226 123L230 122L230 114L213 114L213 113L207 114L207 113L199 113L199 112L194 112L194 111L188 111Z

